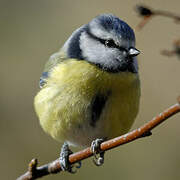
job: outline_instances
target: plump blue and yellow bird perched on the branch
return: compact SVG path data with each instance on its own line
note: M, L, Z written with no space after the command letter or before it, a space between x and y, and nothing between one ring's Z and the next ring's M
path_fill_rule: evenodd
M63 170L72 172L69 146L91 145L96 154L103 140L130 130L140 104L139 53L133 29L115 15L101 14L49 58L34 107L44 131L64 142Z

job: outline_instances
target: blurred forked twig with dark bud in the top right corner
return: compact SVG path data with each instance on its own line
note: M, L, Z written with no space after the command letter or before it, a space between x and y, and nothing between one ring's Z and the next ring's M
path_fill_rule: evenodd
M154 10L144 5L137 5L136 12L139 14L139 16L143 18L141 22L137 25L138 30L141 30L150 21L150 19L155 16L172 18L175 20L175 23L180 23L180 16L168 11Z

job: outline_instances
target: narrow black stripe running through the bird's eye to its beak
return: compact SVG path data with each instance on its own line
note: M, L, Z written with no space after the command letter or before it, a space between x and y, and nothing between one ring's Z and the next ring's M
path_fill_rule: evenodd
M113 39L101 39L101 38L95 36L94 34L92 34L90 31L87 31L87 34L88 34L91 38L93 38L93 39L99 41L100 43L104 44L106 47L116 48L116 49L119 49L120 51L126 51L126 52L127 52L127 49L126 49L125 47L118 46L118 45L114 42Z

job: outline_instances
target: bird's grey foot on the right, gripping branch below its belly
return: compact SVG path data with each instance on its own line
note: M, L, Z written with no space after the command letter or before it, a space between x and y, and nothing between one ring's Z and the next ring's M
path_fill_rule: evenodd
M94 155L93 162L96 166L101 166L104 163L104 151L101 150L101 143L104 139L96 139L91 143L91 151Z

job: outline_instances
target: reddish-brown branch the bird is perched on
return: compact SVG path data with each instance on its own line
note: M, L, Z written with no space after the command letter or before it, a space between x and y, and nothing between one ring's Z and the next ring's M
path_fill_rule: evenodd
M164 112L160 113L156 117L154 117L151 121L144 124L143 126L135 129L127 134L116 137L114 139L105 141L101 144L101 150L107 151L112 148L118 147L120 145L132 142L138 138L145 137L150 135L152 129L156 126L164 122L166 119L180 112L180 98L178 98L178 103L166 109ZM69 156L69 162L71 164L75 164L83 159L91 157L93 154L90 148L86 148L82 151L76 152ZM37 179L39 177L43 177L48 174L54 174L61 171L61 166L59 164L59 159L52 161L49 164L45 164L43 166L37 167L37 160L33 159L29 164L28 171L17 178L17 180L32 180Z

